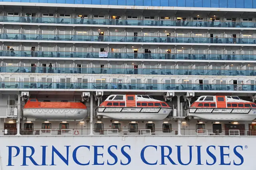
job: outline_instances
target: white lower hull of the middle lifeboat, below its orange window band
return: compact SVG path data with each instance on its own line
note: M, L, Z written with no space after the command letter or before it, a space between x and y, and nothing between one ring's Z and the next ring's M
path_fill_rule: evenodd
M98 107L97 115L118 120L163 120L171 108Z

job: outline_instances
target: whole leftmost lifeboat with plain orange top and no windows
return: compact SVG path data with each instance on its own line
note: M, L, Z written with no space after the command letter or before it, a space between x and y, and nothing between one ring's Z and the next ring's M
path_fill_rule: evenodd
M29 99L23 109L27 120L82 121L87 113L86 106L80 102L39 102L37 99Z

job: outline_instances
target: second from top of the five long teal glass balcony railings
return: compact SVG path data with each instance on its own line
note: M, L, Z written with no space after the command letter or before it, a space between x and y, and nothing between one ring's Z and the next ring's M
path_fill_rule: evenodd
M2 40L45 40L77 42L144 42L144 43L212 43L212 44L256 44L256 38L208 38L166 36L102 36L71 34L16 34L2 33Z

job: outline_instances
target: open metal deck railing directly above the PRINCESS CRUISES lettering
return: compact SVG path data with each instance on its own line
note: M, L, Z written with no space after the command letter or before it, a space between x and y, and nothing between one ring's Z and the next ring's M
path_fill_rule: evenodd
M225 130L225 129L181 129L181 135L186 136L256 136L254 130ZM2 135L16 135L17 130L0 129ZM86 136L90 135L90 129L21 129L21 135L52 135L52 136ZM159 135L176 136L178 129L93 129L94 135Z

